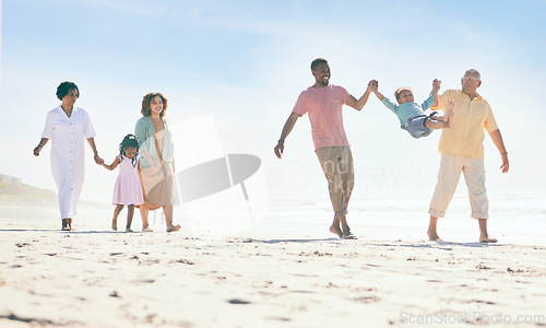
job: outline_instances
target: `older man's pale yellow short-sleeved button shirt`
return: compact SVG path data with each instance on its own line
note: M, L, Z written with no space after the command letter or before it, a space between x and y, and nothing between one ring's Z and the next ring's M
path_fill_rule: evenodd
M472 159L484 159L484 129L492 132L498 129L491 107L480 96L471 98L461 90L447 90L438 97L438 108L446 112L449 101L455 103L454 129L442 129L440 153Z

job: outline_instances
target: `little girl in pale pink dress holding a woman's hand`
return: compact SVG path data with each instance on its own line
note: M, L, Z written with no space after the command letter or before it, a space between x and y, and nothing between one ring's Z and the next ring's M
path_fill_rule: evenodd
M118 215L127 204L127 226L126 232L132 232L131 222L133 220L134 206L144 203L142 196L142 187L140 184L139 173L139 142L133 134L127 134L123 141L119 144L119 155L116 156L110 165L103 164L109 171L112 171L118 165L119 175L114 186L112 203L114 219L111 220L111 229L118 230Z

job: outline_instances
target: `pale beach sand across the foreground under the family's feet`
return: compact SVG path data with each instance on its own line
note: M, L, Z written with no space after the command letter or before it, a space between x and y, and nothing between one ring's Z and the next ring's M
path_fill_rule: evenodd
M546 325L545 246L78 227L0 219L0 327Z

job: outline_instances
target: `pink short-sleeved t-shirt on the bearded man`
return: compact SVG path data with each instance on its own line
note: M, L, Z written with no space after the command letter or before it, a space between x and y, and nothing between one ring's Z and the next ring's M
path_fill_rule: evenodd
M348 92L339 85L309 86L299 94L292 113L299 116L306 113L309 115L314 150L323 147L348 145L342 115L342 106L348 96Z

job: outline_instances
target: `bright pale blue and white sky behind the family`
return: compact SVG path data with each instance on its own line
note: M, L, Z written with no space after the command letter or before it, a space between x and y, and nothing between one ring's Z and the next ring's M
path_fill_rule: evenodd
M460 87L468 68L482 72L510 155L486 136L490 195L546 195L546 1L178 1L3 0L1 3L0 173L56 190L50 144L32 155L57 85L75 82L76 105L93 120L100 155L111 162L133 132L142 96L162 92L167 118L212 117L224 153L262 160L272 199L328 199L308 117L273 147L309 69L327 58L331 83L356 97L371 79L390 96L402 85L425 99L435 78ZM363 112L345 107L356 166L353 198L430 198L440 161L439 131L415 140L372 95ZM201 127L197 127L201 128ZM206 133L179 141L199 157ZM97 166L87 148L83 199L110 202L117 173ZM212 159L211 159L212 160ZM179 167L180 169L183 168ZM464 195L466 188L460 185ZM250 190L249 190L250 191ZM251 191L250 191L251 192Z

